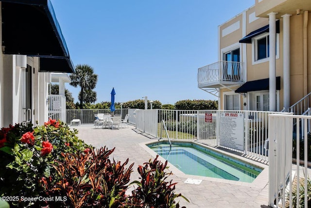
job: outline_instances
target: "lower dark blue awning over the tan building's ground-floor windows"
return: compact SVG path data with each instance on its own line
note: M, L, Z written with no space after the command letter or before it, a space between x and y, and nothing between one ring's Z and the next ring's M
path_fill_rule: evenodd
M276 77L276 90L281 89L281 77ZM254 81L245 82L241 87L239 87L235 93L247 93L253 91L269 90L269 78L258 79Z

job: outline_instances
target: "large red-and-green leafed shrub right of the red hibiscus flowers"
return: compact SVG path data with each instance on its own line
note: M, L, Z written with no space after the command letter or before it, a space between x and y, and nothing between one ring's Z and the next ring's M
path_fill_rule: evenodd
M69 206L117 208L123 207L126 201L125 191L132 172L124 166L128 159L111 162L108 157L114 151L105 147L94 151L62 153L63 162L52 165L56 170L56 180L45 178L42 181L47 197L65 196L66 200L52 201L52 207Z

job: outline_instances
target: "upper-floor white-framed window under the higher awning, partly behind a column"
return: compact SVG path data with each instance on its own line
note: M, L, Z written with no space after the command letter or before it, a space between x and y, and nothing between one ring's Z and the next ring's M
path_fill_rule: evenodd
M252 39L254 56L253 65L269 61L269 33L264 33ZM279 34L276 34L276 58L279 58Z

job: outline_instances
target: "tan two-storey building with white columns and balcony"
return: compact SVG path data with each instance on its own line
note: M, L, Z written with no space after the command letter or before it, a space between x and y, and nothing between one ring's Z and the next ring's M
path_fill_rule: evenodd
M287 110L311 92L310 11L309 0L255 0L218 27L218 62L198 69L198 87L219 109Z

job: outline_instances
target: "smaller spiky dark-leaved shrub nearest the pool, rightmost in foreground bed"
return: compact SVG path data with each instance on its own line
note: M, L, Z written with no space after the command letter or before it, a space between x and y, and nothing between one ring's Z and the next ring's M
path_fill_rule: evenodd
M134 181L138 187L132 191L129 202L132 207L143 208L179 208L179 202L175 204L177 197L182 197L189 202L183 195L175 194L176 183L167 182L166 179L172 172L165 172L167 161L163 164L157 160L158 155L149 163L144 163L144 167L138 166L138 173L141 181ZM130 206L131 207L131 206Z

